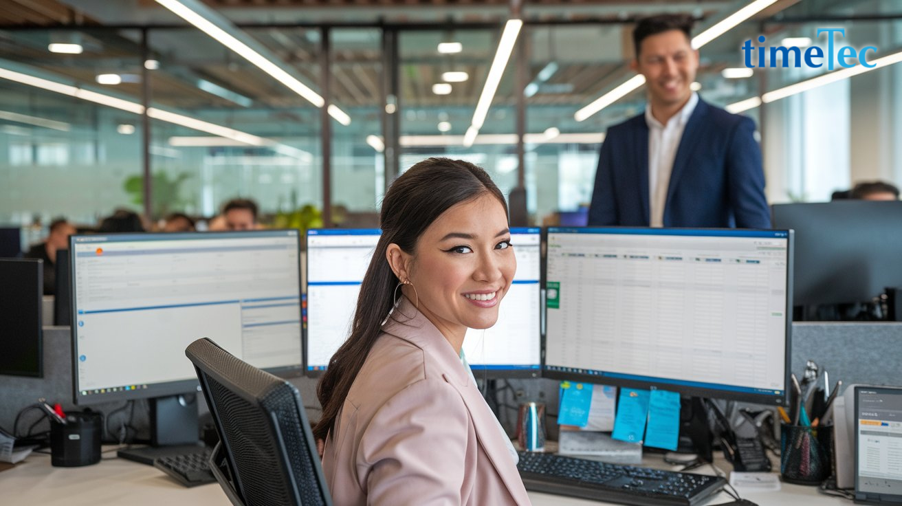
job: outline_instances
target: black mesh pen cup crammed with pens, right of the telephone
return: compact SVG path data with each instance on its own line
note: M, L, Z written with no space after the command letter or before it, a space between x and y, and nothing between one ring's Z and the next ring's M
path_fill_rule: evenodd
M833 426L780 427L780 474L783 481L818 485L833 472Z

